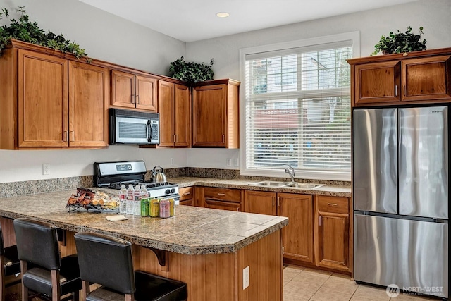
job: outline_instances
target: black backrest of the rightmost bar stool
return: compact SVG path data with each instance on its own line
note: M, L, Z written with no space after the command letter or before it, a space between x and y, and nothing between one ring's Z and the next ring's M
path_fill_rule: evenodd
M97 233L75 233L80 278L123 294L135 293L132 244Z

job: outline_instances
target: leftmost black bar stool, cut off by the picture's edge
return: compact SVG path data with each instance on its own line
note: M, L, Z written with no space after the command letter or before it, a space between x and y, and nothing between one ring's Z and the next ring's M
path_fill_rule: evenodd
M6 277L20 273L20 262L17 254L17 246L4 247L3 232L0 226L0 295L1 301L5 301L6 288L20 282L20 278L16 281L11 281L6 285Z

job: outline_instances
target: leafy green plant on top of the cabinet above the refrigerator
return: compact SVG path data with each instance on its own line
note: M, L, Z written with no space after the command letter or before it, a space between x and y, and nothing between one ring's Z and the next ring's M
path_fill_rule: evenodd
M374 45L371 55L379 54L400 54L403 52L426 50L426 39L421 40L424 34L423 27L419 28L419 35L412 32L412 27L407 27L406 32L390 32L388 37L382 36L378 44Z

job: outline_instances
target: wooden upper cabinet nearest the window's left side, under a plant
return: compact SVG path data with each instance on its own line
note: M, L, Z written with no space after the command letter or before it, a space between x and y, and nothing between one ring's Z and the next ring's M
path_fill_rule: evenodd
M237 80L208 80L192 89L192 147L238 148Z

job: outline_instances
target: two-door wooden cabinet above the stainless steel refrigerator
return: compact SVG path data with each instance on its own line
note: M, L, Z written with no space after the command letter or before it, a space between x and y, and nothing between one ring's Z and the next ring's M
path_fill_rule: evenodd
M451 48L347 61L352 106L451 100Z

